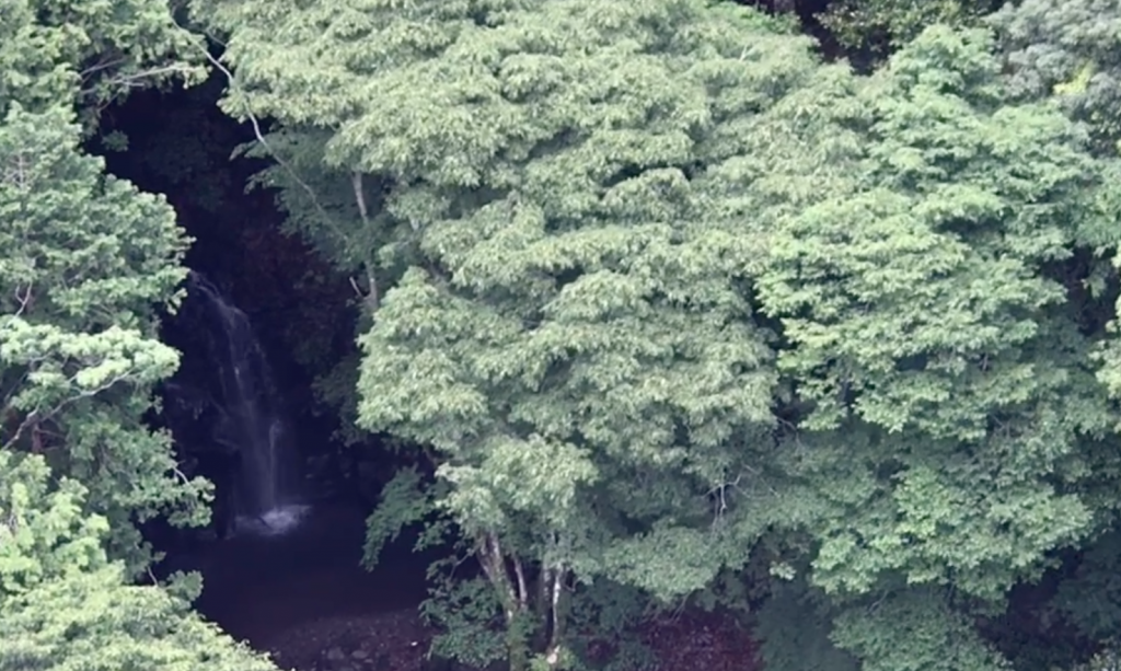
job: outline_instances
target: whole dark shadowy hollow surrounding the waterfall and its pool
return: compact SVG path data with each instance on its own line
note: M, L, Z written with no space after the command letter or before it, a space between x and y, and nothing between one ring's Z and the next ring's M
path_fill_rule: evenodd
M215 483L216 501L210 529L146 529L168 552L158 575L200 570L200 612L263 647L316 622L415 609L432 558L413 554L405 534L378 570L360 565L372 494L398 465L374 439L334 440L337 413L313 392L323 367L353 352L353 292L281 232L274 194L245 192L263 164L230 160L254 136L219 110L223 88L216 76L139 92L104 117L103 133L123 133L128 149L91 149L110 173L164 194L194 239L187 298L163 324L183 361L155 421L172 430L183 470ZM302 358L300 346L318 358ZM356 457L340 465L348 450L367 456L362 469ZM298 514L278 523L289 504Z

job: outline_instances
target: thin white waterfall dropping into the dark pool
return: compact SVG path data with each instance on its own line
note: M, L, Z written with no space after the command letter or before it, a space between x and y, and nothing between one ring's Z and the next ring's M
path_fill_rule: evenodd
M307 512L299 501L299 469L272 374L249 317L196 272L188 300L204 307L221 419L214 439L240 456L235 533L279 534Z

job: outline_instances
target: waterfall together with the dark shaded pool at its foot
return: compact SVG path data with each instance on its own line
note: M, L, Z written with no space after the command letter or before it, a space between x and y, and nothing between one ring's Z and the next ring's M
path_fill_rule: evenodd
M183 435L194 438L200 456L221 456L211 458L221 465L206 472L216 485L215 533L172 549L160 572L200 571L195 608L258 650L298 642L306 639L302 631L324 623L415 614L425 596L426 559L402 540L377 571L361 566L372 504L356 494L342 500L308 481L302 447L316 438L291 422L286 390L276 384L248 315L192 272L176 326L191 364L184 367L194 374L170 391L202 390L196 395L210 409L187 413L191 427Z

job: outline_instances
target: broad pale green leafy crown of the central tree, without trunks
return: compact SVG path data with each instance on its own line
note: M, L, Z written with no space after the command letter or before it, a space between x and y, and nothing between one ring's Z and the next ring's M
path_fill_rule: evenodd
M388 208L424 255L362 339L361 421L441 450L469 535L581 580L697 589L731 557L685 561L705 492L767 445L776 381L736 283L758 246L698 177L726 150L710 140L812 62L693 2L493 24L448 20L446 48L368 75L332 146L399 180Z

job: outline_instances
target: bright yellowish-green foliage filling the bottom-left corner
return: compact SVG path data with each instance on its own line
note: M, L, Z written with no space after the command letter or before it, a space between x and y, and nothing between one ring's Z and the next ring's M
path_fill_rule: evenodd
M158 586L129 585L106 520L39 455L0 449L0 669L275 671Z

